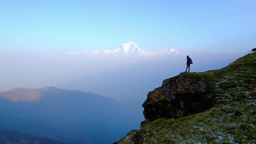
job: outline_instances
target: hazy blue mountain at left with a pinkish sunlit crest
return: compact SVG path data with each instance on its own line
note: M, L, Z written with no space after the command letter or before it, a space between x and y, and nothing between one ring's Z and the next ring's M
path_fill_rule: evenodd
M112 143L137 125L132 112L111 98L56 87L0 93L0 127L87 144Z

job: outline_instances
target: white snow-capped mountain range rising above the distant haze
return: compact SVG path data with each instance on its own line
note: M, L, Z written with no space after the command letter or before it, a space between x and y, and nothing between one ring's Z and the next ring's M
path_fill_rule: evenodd
M122 44L118 49L115 50L95 50L93 52L81 51L81 52L70 52L68 54L85 54L85 55L105 55L105 56L164 56L164 55L179 55L178 51L174 48L170 50L164 50L160 52L146 52L141 49L137 44L134 42L128 42Z

